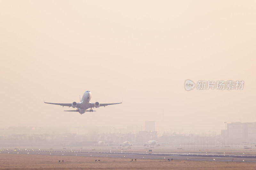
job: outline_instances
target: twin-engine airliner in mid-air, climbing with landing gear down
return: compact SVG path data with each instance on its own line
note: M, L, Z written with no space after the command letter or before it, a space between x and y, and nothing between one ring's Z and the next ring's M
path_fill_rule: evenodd
M79 112L81 115L84 114L85 112L93 112L95 110L92 110L92 108L98 108L100 106L108 106L108 105L113 105L113 104L121 104L121 103L99 103L99 102L95 102L95 103L91 103L90 100L92 98L92 93L91 91L86 91L84 92L84 95L82 96L82 100L80 98L80 103L47 103L47 104L56 104L56 105L60 105L62 107L64 106L68 106L68 107L73 107L73 108L77 108L76 110L64 110L64 111L74 111L74 112ZM89 109L90 110L87 110Z

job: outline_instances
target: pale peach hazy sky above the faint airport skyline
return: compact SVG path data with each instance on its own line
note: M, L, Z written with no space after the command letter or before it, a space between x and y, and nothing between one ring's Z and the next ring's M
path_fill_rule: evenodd
M0 128L256 122L256 1L0 1ZM243 90L186 91L184 81ZM123 103L80 115L44 104Z

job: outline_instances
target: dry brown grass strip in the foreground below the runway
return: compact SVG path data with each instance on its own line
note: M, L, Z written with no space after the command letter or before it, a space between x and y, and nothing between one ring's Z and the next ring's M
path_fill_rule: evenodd
M97 159L97 162L95 162ZM98 161L100 159L100 162ZM60 163L59 163L60 160ZM62 163L64 160L64 163ZM129 158L61 156L36 154L0 154L0 169L256 169L255 163L157 160Z

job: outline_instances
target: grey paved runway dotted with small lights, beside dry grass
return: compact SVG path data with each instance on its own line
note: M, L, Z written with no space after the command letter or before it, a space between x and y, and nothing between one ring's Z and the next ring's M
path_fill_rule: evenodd
M225 162L254 162L253 154L218 154L218 153L156 153L136 151L62 151L62 150L1 150L0 154L39 154L39 155L63 155L80 157L110 157L130 159L159 159L159 160L189 160L189 161L225 161Z

